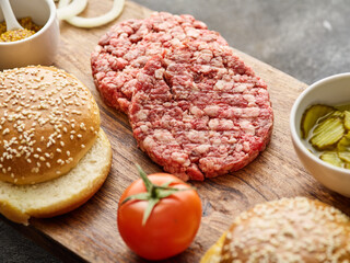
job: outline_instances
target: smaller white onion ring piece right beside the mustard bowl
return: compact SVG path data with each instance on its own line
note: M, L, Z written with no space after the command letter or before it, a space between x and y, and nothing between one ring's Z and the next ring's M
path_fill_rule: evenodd
M61 0L58 3L57 18L59 20L67 20L80 14L88 5L88 0Z

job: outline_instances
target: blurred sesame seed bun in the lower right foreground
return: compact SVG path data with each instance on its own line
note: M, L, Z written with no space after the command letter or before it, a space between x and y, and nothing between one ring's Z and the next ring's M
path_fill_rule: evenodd
M242 213L201 263L349 262L350 219L305 197L282 198Z

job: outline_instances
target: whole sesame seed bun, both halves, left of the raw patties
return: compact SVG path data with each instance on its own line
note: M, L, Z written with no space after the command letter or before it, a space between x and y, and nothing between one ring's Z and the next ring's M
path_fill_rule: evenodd
M75 77L40 66L0 72L0 214L27 225L68 213L110 164L97 104Z

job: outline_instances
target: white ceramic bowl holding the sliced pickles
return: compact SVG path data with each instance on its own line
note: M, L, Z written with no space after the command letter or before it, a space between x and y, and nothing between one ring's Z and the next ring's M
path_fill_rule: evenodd
M292 141L306 170L326 187L350 197L350 170L334 167L311 153L301 139L301 118L313 104L350 104L350 72L331 76L310 85L294 102L290 116Z

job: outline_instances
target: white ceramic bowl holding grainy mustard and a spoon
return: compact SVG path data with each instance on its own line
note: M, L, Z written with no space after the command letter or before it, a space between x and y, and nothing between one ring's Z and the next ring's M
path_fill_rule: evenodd
M16 18L31 16L44 25L34 35L18 42L0 42L0 70L28 65L51 65L58 49L59 23L52 0L11 0ZM3 21L0 10L0 22Z

